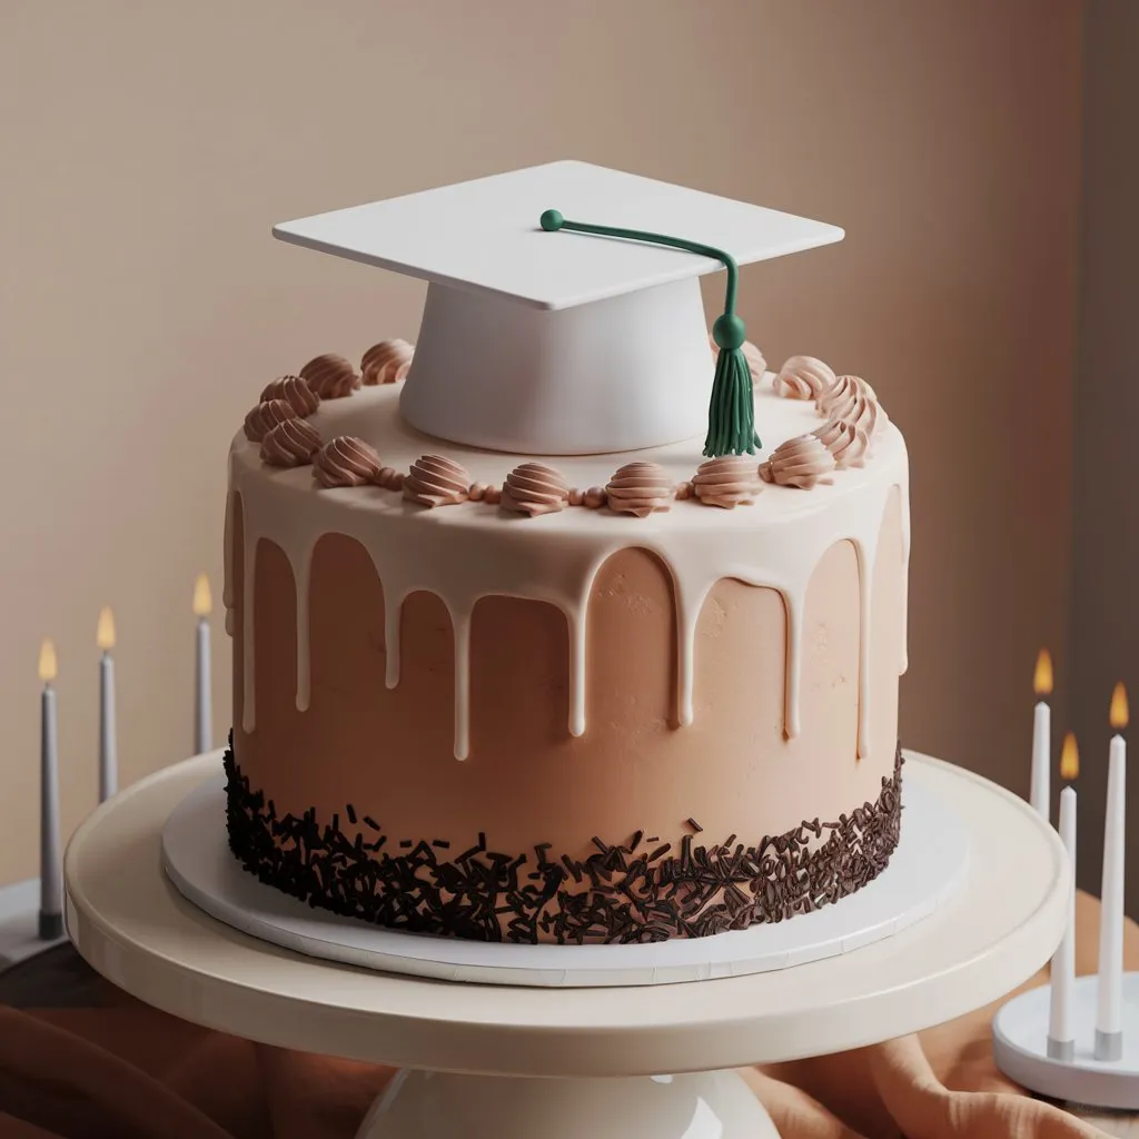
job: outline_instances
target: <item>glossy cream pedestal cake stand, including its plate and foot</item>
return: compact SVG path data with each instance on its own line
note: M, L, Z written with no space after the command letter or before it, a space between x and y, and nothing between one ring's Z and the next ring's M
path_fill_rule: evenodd
M399 1065L360 1139L771 1139L731 1068L887 1040L995 1000L1048 959L1066 917L1068 867L1051 828L986 780L910 755L907 779L966 821L969 869L944 906L885 941L657 988L392 976L255 941L166 879L163 823L216 763L161 771L80 827L64 862L68 932L109 981L174 1016Z

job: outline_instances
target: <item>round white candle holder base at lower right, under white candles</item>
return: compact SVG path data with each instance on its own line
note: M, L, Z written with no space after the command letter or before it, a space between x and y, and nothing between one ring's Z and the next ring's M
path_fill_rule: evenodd
M1050 1099L1139 1109L1139 973L1123 977L1123 1055L1117 1060L1095 1057L1096 993L1096 977L1076 980L1071 1060L1048 1055L1050 985L1015 997L993 1017L993 1059L1009 1079Z

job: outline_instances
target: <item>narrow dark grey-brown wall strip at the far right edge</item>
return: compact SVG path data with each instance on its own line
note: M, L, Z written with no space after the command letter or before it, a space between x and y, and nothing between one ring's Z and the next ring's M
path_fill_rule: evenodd
M1139 715L1139 5L1093 0L1084 46L1084 206L1075 404L1073 722L1080 734L1080 884L1099 892L1107 708L1125 681ZM1131 732L1132 744L1136 739ZM1132 753L1133 754L1133 753ZM1133 761L1132 761L1133 762ZM1132 776L1129 817L1139 811ZM1133 828L1132 828L1133 829ZM1128 911L1139 912L1139 847Z

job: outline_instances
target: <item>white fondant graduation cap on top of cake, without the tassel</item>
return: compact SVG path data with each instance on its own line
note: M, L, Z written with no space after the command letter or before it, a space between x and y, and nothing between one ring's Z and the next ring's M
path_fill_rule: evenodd
M698 278L724 263L546 232L557 210L673 235L744 264L838 241L835 226L582 162L497 174L285 222L273 235L428 282L401 396L431 435L530 454L703 435L714 357Z

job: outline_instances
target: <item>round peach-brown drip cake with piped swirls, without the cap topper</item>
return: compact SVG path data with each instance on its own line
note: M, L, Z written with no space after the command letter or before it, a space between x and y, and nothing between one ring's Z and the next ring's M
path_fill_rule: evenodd
M377 349L364 379L398 380ZM443 443L344 361L271 385L230 452L241 863L385 927L528 943L706 936L874 878L907 454L869 385L814 363L757 374L760 453L711 462L702 437Z

